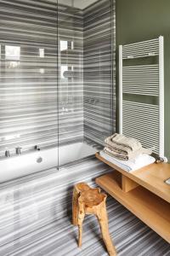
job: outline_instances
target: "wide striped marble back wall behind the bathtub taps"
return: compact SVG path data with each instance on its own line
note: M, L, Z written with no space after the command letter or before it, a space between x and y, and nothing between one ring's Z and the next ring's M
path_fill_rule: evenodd
M82 12L4 0L0 17L0 154L82 140Z

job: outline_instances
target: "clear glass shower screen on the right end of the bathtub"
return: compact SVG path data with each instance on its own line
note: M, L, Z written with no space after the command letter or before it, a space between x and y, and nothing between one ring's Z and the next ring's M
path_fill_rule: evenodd
M115 131L115 1L58 2L59 166Z

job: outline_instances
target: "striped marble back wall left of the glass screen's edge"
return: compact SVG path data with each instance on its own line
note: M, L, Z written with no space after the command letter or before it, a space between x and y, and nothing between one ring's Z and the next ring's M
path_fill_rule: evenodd
M57 4L0 5L0 154L57 148Z

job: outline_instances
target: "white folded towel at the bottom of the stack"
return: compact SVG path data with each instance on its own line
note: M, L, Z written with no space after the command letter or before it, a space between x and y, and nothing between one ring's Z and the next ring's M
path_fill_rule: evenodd
M122 168L122 170L124 170L126 172L136 171L144 166L153 164L156 161L153 156L150 156L148 154L139 154L133 160L118 160L114 157L111 157L108 154L105 154L104 151L100 151L99 154L103 158L105 158L105 160L110 161L112 164Z

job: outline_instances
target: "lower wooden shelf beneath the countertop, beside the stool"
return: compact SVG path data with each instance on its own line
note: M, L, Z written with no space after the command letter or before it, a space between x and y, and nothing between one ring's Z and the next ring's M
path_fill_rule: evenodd
M96 178L96 183L157 234L170 242L170 204L167 201L142 186L127 193L124 192L122 173L117 171Z

